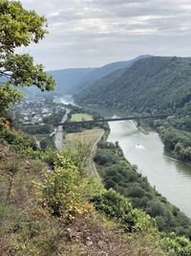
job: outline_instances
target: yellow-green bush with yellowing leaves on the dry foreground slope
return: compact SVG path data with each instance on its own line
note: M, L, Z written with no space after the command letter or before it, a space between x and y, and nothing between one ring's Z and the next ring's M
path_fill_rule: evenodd
M86 201L87 195L82 190L83 179L76 166L64 156L58 155L58 159L59 165L56 163L53 172L45 174L44 182L39 184L43 205L63 221L93 214L94 208Z

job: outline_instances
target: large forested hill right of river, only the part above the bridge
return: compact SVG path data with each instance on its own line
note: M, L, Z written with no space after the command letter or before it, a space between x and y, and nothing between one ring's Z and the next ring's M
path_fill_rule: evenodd
M152 57L136 61L75 95L85 105L187 112L191 105L191 58Z

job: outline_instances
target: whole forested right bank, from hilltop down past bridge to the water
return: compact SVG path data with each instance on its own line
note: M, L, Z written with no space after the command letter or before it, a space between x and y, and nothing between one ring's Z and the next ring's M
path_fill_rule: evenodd
M75 95L81 105L122 109L125 113L165 113L154 125L165 148L191 161L191 58L153 57L138 60L96 81Z

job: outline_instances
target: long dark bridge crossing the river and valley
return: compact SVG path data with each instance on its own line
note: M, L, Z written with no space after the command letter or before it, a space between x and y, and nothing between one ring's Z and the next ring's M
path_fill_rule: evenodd
M117 117L117 118L105 118L105 119L96 119L96 120L88 120L88 121L78 121L78 122L64 122L64 123L58 123L54 124L54 127L62 126L78 126L78 125L84 125L84 124L96 124L96 123L106 123L106 122L117 122L117 121L126 121L126 120L137 120L138 126L140 120L145 119L165 119L167 118L167 115L159 114L159 115L142 115L142 116L128 116L128 117Z

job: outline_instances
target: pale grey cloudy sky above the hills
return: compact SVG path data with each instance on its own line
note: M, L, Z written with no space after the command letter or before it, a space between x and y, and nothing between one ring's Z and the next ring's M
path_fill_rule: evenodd
M49 35L22 53L46 70L99 67L139 55L191 57L191 0L21 0Z

